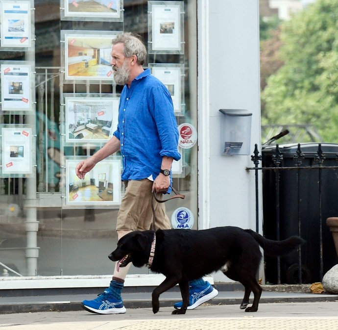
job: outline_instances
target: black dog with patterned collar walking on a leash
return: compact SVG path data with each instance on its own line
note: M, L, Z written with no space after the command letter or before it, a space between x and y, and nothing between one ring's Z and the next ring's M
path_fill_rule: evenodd
M271 241L253 230L238 227L133 231L121 237L109 259L120 260L118 269L132 262L136 267L148 265L151 271L166 277L152 292L154 313L160 309L160 294L178 283L183 304L172 314L185 314L189 306L189 280L218 270L244 285L241 309L256 312L262 293L256 279L262 259L259 246L270 256L280 256L290 253L304 242L297 236L284 241ZM252 306L247 307L251 291L254 300Z

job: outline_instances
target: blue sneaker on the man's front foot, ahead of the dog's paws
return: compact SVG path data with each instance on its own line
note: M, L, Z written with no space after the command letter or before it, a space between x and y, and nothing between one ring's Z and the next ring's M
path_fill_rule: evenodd
M116 299L109 289L99 294L94 300L84 300L81 307L97 314L122 314L126 312L122 299Z

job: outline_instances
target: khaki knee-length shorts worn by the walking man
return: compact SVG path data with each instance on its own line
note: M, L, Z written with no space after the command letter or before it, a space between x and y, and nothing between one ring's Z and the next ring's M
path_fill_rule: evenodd
M149 179L129 180L121 201L116 230L153 229L153 210L155 210L155 229L170 229L171 223L164 203L158 203L151 192L153 181ZM157 194L158 199L162 194Z

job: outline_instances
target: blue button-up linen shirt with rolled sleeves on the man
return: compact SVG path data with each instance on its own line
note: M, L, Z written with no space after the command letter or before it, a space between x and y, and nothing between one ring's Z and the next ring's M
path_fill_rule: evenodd
M178 129L168 89L147 69L130 87L123 87L119 123L122 180L142 180L159 175L162 157L181 158Z

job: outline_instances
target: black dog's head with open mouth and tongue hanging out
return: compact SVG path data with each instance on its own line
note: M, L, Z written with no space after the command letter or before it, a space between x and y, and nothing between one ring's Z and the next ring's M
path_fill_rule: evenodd
M135 267L144 266L149 259L154 231L132 231L119 239L118 247L108 255L112 261L119 261L117 270L132 262Z

